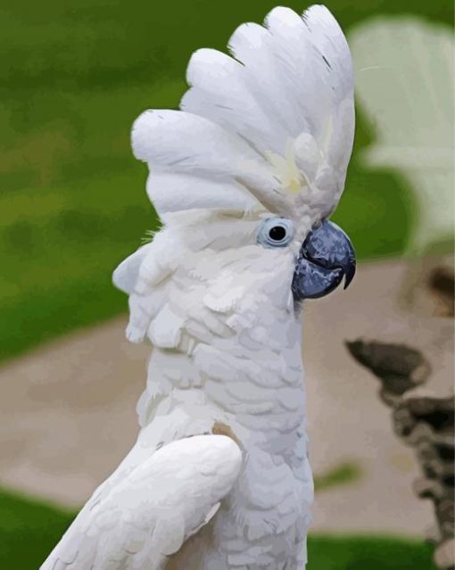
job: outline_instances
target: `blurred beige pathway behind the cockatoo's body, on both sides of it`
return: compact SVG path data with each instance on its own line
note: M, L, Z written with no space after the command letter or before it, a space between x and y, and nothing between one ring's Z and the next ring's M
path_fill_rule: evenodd
M432 522L430 504L411 491L418 469L392 433L376 380L343 345L402 328L392 300L404 271L400 262L364 265L348 291L305 309L311 463L317 474L346 460L363 471L318 493L315 529L420 534ZM135 440L149 353L124 340L125 325L115 318L0 368L1 485L79 506L117 466Z

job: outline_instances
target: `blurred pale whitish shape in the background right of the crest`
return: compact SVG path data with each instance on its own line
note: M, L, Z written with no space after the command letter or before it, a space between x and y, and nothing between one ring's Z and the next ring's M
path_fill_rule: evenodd
M454 37L415 18L377 18L352 30L357 100L375 128L361 159L397 169L418 212L408 253L448 242L454 226Z

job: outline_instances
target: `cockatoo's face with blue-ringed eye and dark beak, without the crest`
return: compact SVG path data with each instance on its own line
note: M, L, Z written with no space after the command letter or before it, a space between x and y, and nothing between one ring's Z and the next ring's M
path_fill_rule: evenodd
M343 230L323 220L304 235L298 221L267 211L192 211L165 215L185 244L179 261L191 275L216 282L223 295L274 294L294 306L350 284L355 253ZM223 286L224 284L224 286Z

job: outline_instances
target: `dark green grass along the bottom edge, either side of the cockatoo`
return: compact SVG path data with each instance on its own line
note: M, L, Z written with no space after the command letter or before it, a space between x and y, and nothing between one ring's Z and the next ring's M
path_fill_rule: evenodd
M0 492L0 568L37 570L73 514L42 501ZM375 536L310 536L308 570L431 570L421 541Z

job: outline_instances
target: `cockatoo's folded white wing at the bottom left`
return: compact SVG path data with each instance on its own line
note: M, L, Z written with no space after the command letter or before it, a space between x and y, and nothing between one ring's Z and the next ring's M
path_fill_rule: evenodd
M165 445L103 483L41 570L163 569L216 515L241 462L236 442L224 435Z

